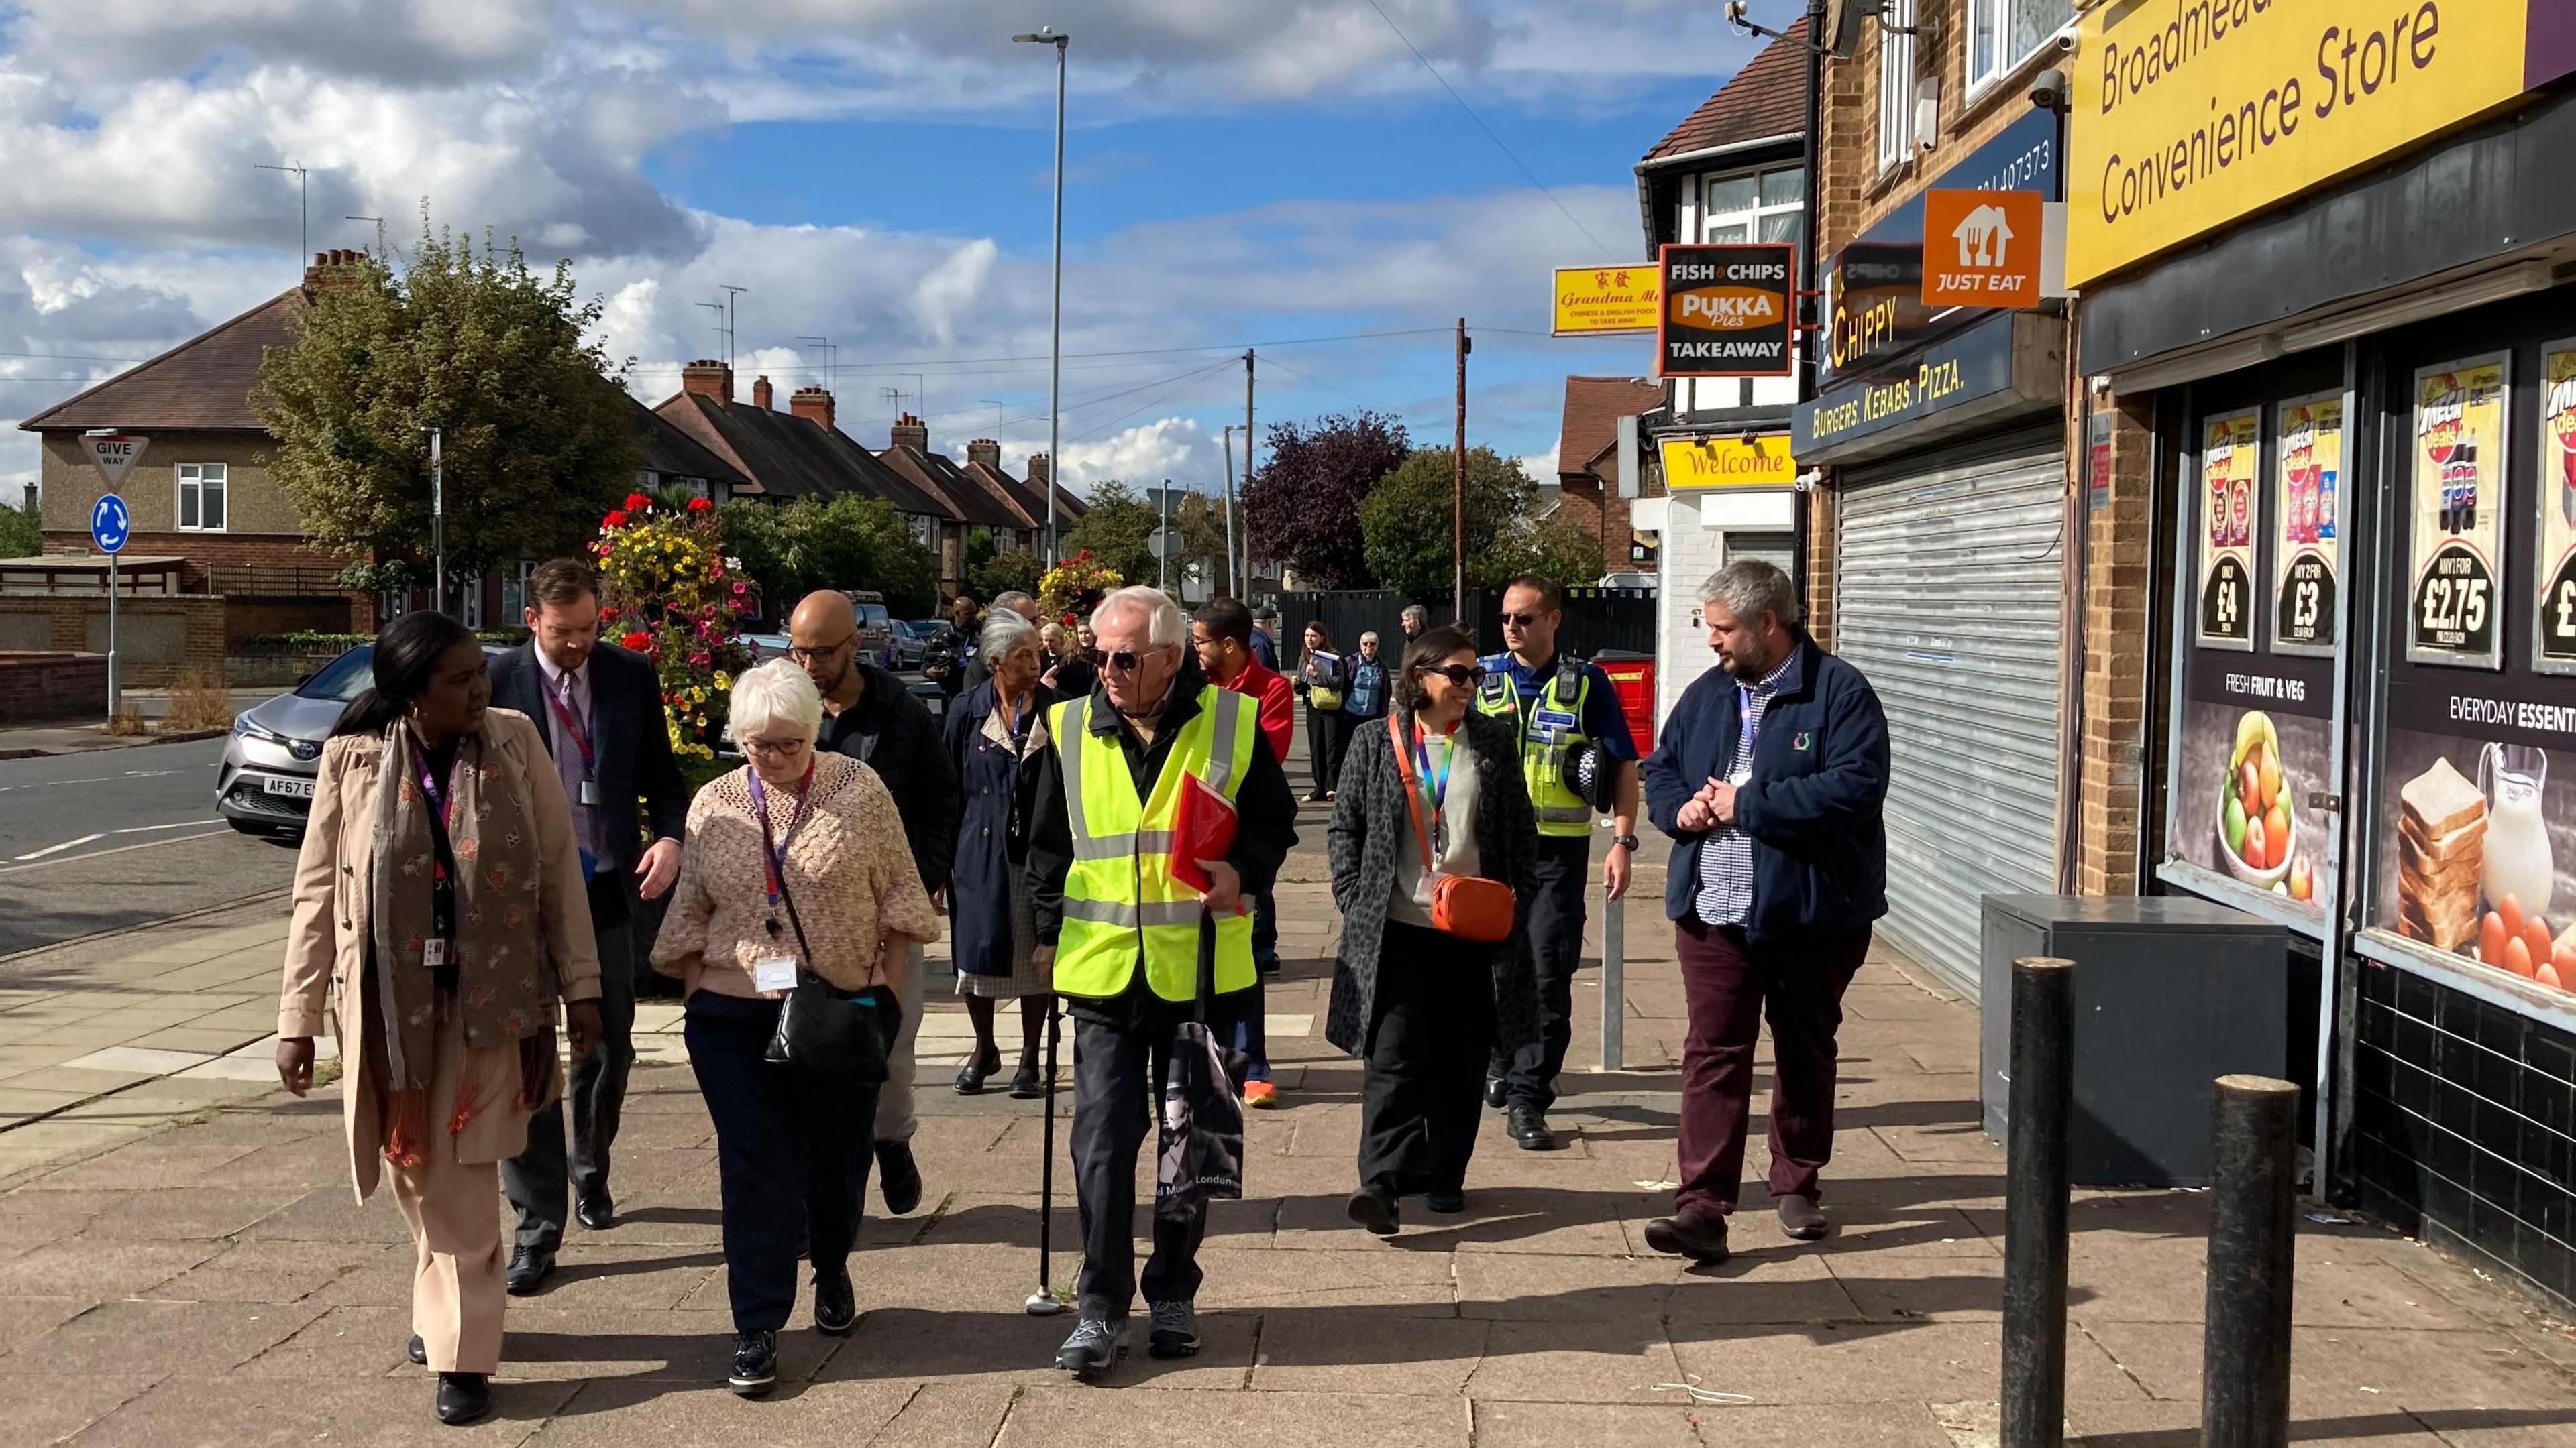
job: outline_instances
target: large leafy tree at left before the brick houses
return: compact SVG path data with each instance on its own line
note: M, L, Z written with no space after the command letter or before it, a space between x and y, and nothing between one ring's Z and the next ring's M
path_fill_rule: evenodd
M430 232L407 271L361 258L325 283L294 345L260 363L270 477L353 587L430 557L430 428L443 433L446 562L474 577L577 549L634 484L634 402L577 304L572 263ZM412 559L412 569L379 564Z

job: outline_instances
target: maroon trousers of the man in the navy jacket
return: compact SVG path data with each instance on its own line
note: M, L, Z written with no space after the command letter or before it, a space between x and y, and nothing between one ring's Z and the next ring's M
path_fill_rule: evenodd
M1680 920L1682 992L1682 1188L1685 1216L1728 1216L1744 1185L1744 1126L1754 1090L1754 1036L1772 1025L1770 1190L1816 1196L1834 1157L1834 1031L1870 930L1752 946L1741 928Z

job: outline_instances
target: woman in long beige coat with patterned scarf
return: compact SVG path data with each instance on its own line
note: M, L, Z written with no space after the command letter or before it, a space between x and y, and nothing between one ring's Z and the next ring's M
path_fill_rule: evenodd
M572 812L523 714L489 709L484 654L443 613L376 634L376 688L322 745L296 861L278 1077L304 1095L335 1013L358 1201L392 1177L412 1226L412 1360L440 1422L492 1409L500 1162L600 1033ZM384 1165L379 1165L379 1159Z

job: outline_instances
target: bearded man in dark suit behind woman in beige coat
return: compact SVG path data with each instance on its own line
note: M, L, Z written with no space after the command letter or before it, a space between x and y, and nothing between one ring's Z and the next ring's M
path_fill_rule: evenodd
M500 1167L518 1214L510 1291L533 1293L554 1275L564 1214L590 1232L616 1226L608 1152L634 1072L636 956L629 943L629 889L662 899L680 876L688 781L662 729L662 675L654 662L600 642L600 575L554 559L528 575L528 644L492 660L492 703L536 721L572 806L592 943L600 956L600 1049L572 1069L564 1105L528 1121L528 1149ZM636 827L652 822L652 843ZM564 1149L564 1110L572 1149Z

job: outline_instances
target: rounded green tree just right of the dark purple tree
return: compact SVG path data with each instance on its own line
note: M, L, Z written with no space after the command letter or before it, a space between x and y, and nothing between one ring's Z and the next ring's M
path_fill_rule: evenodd
M1368 541L1368 567L1383 587L1406 598L1448 598L1453 582L1453 453L1422 448L1360 505L1360 531ZM1466 451L1466 582L1494 587L1533 557L1530 502L1538 484L1520 464L1494 448ZM1566 523L1571 528L1571 523ZM1592 544L1600 572L1600 544Z

